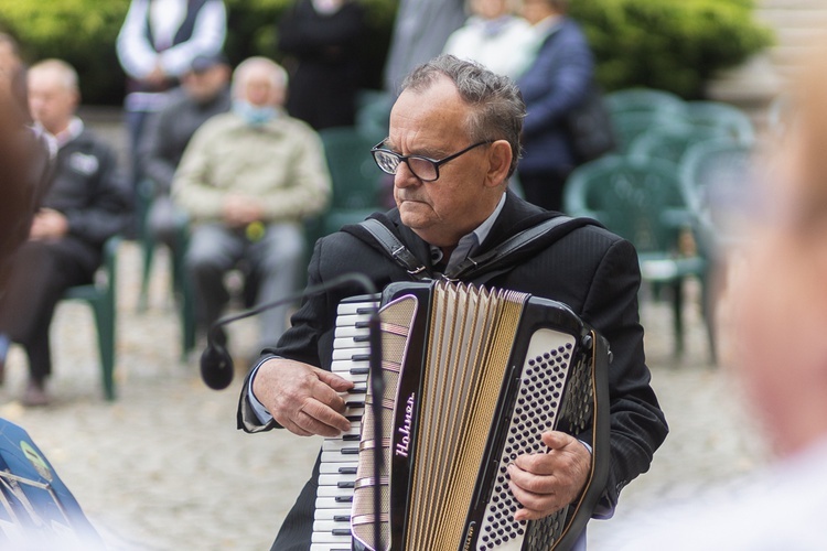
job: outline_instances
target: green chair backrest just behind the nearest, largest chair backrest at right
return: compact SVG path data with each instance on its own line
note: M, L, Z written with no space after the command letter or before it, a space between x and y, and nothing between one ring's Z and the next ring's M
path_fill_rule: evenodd
M637 136L630 144L627 153L632 156L664 159L680 164L684 154L694 144L728 137L728 132L720 127L655 127Z

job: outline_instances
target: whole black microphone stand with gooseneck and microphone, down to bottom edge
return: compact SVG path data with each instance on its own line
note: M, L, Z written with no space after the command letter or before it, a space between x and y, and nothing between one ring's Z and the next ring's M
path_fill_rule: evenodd
M343 287L347 283L356 283L361 285L367 294L376 294L376 285L366 276L362 273L343 273L326 283L319 283L316 285L310 285L303 291L290 294L277 301L268 302L256 306L255 309L240 312L238 314L228 315L214 322L207 331L207 346L201 355L201 376L204 382L212 389L222 390L227 388L233 381L233 358L227 353L227 349L218 344L218 332L219 329L233 322L250 317L261 312L266 312L270 309L282 306L290 302L299 299L311 296L314 294L323 293L339 287ZM382 478L382 466L384 447L382 445L382 401L385 392L385 377L382 372L382 322L379 320L379 310L377 307L370 309L370 316L368 318L368 344L370 345L370 358L368 360L368 368L370 371L370 392L373 393L372 412L374 415L374 437L376 439L378 453L374 453L374 474L376 478L376 485L374 489L374 541L376 542L377 549L382 548L382 493L379 488L379 482ZM388 526L389 519L388 519ZM388 533L389 536L389 533Z

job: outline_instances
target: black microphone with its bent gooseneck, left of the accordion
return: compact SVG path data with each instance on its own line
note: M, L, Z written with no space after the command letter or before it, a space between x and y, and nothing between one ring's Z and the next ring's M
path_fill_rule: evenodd
M297 301L304 296L311 296L313 294L330 291L331 289L344 287L347 283L356 283L361 285L366 293L376 294L376 285L374 285L373 281L370 281L367 277L363 276L362 273L344 273L342 276L333 278L326 283L308 287L303 291L284 296L283 299L261 304L259 306L256 306L255 309L250 309L238 314L224 316L221 320L214 322L212 325L210 325L210 329L207 331L206 348L204 348L204 352L201 354L201 378L204 380L207 387L214 390L223 390L227 388L230 382L233 382L233 358L229 356L227 348L219 343L219 333L222 327L224 327L225 325L228 325L238 320L244 320L246 317L260 314L261 312L266 312L277 306L283 306L284 304ZM377 316L378 321L378 313L375 312L374 315ZM378 329L378 322L370 324L372 334L374 333L375 328ZM376 339L370 341L372 344L374 343L374 341ZM375 353L373 353L372 350L372 357L374 355Z

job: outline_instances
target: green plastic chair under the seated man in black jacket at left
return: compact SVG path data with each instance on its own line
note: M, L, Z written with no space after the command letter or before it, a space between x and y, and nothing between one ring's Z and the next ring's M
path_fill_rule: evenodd
M63 294L63 300L86 302L93 310L98 334L101 381L104 396L115 400L115 341L116 341L116 291L117 258L121 238L116 236L104 244L100 269L94 283L72 287Z

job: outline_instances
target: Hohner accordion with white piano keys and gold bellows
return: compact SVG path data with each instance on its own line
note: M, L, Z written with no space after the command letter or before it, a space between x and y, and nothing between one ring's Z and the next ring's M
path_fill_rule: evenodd
M332 370L354 381L352 430L322 445L311 549L569 548L609 471L605 339L562 303L525 293L425 282L362 299L337 312ZM369 380L377 306L383 396ZM548 430L591 446L586 490L515 522L506 467L547 451Z

